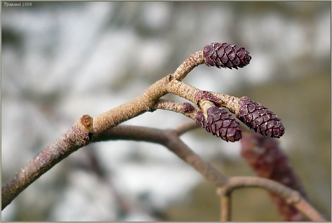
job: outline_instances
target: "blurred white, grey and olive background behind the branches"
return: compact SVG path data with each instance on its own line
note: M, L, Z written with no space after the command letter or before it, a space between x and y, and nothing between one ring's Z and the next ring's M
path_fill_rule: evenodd
M33 2L2 7L4 185L83 114L141 94L205 45L252 56L239 70L201 65L184 81L248 96L286 128L278 139L310 202L331 214L331 2ZM165 99L185 100L166 95ZM172 128L170 111L124 124ZM197 129L181 137L227 176L254 176L240 142ZM269 195L233 195L234 221L279 221ZM79 149L1 212L2 221L217 221L215 188L165 147L108 141Z

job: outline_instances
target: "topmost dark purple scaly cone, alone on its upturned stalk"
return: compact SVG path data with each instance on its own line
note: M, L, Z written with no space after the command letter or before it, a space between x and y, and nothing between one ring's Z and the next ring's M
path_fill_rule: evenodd
M203 48L203 56L207 66L217 68L242 68L248 65L251 60L249 52L244 47L221 42L206 45Z

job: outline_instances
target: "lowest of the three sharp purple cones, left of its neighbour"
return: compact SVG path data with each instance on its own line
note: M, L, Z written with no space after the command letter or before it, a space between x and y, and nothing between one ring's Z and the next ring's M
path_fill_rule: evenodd
M226 142L239 141L242 138L240 124L235 121L224 109L211 106L207 109L207 119L203 112L196 115L196 123L212 133L213 136L220 137Z

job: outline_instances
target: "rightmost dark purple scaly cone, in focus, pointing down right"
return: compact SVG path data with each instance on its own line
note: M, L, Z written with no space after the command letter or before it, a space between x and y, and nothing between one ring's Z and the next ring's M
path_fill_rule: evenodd
M239 104L241 107L236 118L250 129L271 138L280 138L285 134L285 127L278 116L260 103L254 102L248 97L241 97Z

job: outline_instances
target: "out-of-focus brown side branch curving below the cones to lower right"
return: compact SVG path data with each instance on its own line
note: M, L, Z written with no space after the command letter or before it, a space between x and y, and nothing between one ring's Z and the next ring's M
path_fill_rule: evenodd
M190 128L188 128L188 130L189 129ZM203 177L205 177L207 181L218 188L222 188L224 195L229 195L230 192L236 188L260 187L288 200L290 204L293 204L297 209L306 214L312 220L325 220L309 203L307 203L304 199L301 199L301 196L296 191L293 191L280 183L259 177L232 177L227 179L218 170L216 170L213 166L211 166L194 151L192 151L179 138L178 132L176 130L161 130L148 127L120 125L94 135L91 139L91 142L119 139L148 141L165 145L178 157L194 167L199 173L203 175ZM20 183L23 184L24 188L27 187L24 185L25 182ZM8 197L8 199L14 198ZM229 214L227 215L229 216Z

